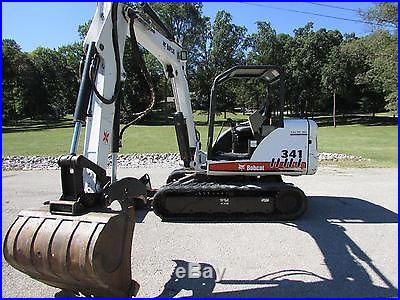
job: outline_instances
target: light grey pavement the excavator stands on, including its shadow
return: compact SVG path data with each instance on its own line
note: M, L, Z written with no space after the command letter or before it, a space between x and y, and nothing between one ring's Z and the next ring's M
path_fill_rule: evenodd
M160 186L168 169L148 172ZM2 235L19 210L60 193L58 171L3 172ZM132 272L139 297L393 297L398 289L397 169L321 168L285 178L310 197L292 223L162 223L137 216ZM177 280L191 263L208 279ZM57 289L11 268L3 258L3 297L53 297Z

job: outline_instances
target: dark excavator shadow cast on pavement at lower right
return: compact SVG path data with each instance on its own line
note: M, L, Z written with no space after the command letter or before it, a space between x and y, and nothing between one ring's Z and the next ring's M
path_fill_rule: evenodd
M307 270L281 270L255 279L217 281L213 266L200 263L201 270L210 269L211 276L189 278L189 262L175 260L176 267L159 297L174 297L182 290L192 297L397 297L398 290L373 264L368 255L346 234L340 224L397 223L398 215L382 206L348 197L310 197L308 212L298 221L284 223L309 234L324 256L331 278L323 278ZM373 284L366 268L386 287ZM186 274L178 278L178 268ZM314 277L313 282L291 278L294 275ZM298 278L298 277L297 277ZM263 285L260 288L214 292L216 284ZM268 286L265 286L268 285Z

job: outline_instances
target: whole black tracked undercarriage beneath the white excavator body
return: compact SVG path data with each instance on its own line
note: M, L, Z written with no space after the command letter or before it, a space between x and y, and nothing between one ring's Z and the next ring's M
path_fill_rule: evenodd
M160 188L153 200L163 221L286 221L306 208L303 191L281 176L189 174Z

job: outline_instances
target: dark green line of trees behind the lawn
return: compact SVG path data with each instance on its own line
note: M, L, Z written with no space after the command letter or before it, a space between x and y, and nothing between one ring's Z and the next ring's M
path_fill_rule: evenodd
M313 23L293 34L277 33L268 21L258 21L255 33L234 24L218 11L211 22L201 2L152 3L152 7L189 50L188 81L194 109L208 109L213 78L237 64L276 64L286 73L285 109L301 107L309 115L332 112L333 95L341 113L397 111L397 3L376 3L363 13L378 26L357 37L338 30L315 30ZM82 41L89 22L79 27L81 40L58 49L39 47L24 52L11 39L2 40L2 120L60 119L73 112L79 88ZM391 28L391 30L384 29ZM172 94L156 59L142 49L159 103ZM127 79L122 93L122 118L147 106L146 82L129 43L124 53ZM252 108L263 95L262 85L228 82L219 92L218 110Z

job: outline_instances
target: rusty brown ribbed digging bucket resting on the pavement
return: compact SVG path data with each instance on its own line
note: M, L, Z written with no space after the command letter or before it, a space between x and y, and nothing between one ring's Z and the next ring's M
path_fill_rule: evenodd
M131 247L135 210L54 215L25 210L8 230L4 257L48 285L86 296L132 297Z

